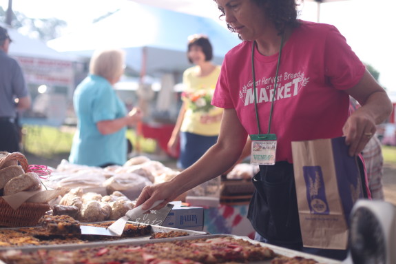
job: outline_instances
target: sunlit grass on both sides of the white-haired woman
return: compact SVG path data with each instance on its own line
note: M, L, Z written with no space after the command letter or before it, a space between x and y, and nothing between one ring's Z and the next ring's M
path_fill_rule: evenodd
M48 126L25 125L23 126L23 150L44 158L70 153L74 128L54 128ZM136 149L137 142L140 151L153 153L156 150L156 141L136 136L134 130L127 130L127 138L132 141Z

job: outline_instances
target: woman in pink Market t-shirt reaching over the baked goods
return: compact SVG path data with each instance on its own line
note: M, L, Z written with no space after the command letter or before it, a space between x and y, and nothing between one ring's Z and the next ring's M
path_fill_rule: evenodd
M344 135L348 154L357 155L375 125L389 116L392 104L340 32L331 25L298 20L294 0L215 1L229 29L243 40L226 54L212 101L225 109L218 141L176 178L145 187L136 205L172 201L227 171L248 135L267 133L271 115L269 134L278 139L275 164L260 165L248 214L256 239L344 259L345 250L302 246L291 141ZM349 96L362 105L351 116Z

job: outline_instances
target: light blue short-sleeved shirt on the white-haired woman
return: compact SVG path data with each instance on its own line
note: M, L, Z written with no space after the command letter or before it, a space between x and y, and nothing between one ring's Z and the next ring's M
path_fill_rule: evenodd
M90 74L74 91L74 111L78 119L69 161L74 164L101 166L123 165L127 161L126 127L103 135L99 121L118 119L127 114L125 104L103 77Z

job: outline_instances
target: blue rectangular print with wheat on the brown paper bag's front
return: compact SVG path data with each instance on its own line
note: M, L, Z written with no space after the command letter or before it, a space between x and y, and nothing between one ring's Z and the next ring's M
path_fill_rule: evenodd
M311 214L329 214L322 168L320 166L304 166L302 170L306 185L306 200Z

